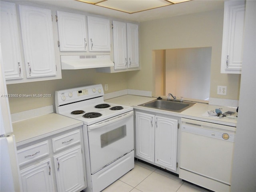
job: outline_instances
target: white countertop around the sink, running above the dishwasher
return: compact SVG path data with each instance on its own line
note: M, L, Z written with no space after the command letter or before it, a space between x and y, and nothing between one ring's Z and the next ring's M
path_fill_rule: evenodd
M236 119L231 119L227 117L220 119L218 117L204 116L204 114L206 114L208 110L215 110L216 108L220 108L222 112L226 112L228 110L236 111L236 108L224 107L224 106L213 106L205 103L197 103L196 105L184 110L183 112L177 113L177 112L170 112L166 110L158 110L158 109L138 106L139 104L143 104L155 99L156 99L155 97L124 95L124 96L108 99L106 100L106 102L126 105L126 106L133 106L134 109L146 110L148 112L158 112L161 114L168 114L172 116L179 116L182 118L191 118L195 120L207 121L207 122L212 122L216 124L224 124L224 125L236 127Z

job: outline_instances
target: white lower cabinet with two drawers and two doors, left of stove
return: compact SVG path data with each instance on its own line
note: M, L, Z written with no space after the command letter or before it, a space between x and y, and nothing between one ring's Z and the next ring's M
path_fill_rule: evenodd
M80 192L85 189L87 181L81 128L42 140L18 147L18 156L26 159L19 158L22 191ZM63 145L58 148L58 153L54 152L54 142ZM48 143L49 148L44 147Z

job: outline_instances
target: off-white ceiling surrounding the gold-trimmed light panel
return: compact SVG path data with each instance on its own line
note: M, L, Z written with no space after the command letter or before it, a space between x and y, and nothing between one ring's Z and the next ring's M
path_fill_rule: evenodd
M127 2L133 2L134 0L122 0ZM144 0L154 1L154 0ZM110 8L96 6L80 2L77 0L36 0L37 3L50 4L53 6L60 6L64 8L72 8L90 14L108 16L111 18L120 18L123 20L129 20L133 22L144 22L148 20L156 20L160 18L168 18L173 16L179 16L184 14L191 14L197 12L205 12L215 9L223 9L224 0L191 0L188 2L182 2L178 4L172 4L168 6L162 6L160 8L154 8L136 13L126 13ZM114 0L113 0L114 2Z

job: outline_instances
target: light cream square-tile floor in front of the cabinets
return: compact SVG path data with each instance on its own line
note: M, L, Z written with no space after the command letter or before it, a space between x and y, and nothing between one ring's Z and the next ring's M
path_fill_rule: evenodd
M133 170L102 192L208 192L182 181L177 176L135 161Z

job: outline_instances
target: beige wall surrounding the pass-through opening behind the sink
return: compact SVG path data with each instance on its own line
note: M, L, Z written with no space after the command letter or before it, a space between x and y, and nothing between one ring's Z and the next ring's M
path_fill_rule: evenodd
M128 88L155 93L152 50L212 47L210 97L238 100L240 74L220 74L223 10L212 10L140 23L141 70L129 72ZM157 64L156 64L157 65ZM227 95L217 95L217 86L227 86Z

